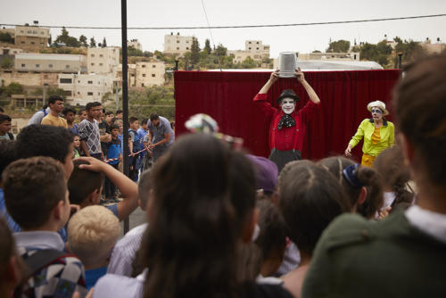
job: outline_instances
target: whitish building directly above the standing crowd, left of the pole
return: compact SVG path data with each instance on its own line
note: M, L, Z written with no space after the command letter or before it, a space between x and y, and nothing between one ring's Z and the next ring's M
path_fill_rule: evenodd
M101 102L103 95L113 92L111 75L59 74L58 87L65 91L70 104Z

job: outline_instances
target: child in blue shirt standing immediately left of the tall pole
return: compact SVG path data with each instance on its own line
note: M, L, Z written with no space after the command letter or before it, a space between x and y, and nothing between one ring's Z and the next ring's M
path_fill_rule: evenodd
M111 165L111 167L118 170L120 161L122 161L122 154L120 153L120 140L118 139L118 136L120 135L120 127L116 124L111 124L110 127L111 130L111 142L106 144L106 156L108 164ZM115 197L116 193L116 186L111 183L111 180L107 177L105 177L105 181L103 184L103 187L105 188L105 201L107 203L118 203L118 199Z

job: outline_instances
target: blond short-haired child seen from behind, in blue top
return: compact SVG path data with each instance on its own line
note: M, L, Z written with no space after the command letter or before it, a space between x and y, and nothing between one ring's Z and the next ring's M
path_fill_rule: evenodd
M107 272L118 236L120 221L103 206L88 206L71 217L67 244L84 264L88 290Z

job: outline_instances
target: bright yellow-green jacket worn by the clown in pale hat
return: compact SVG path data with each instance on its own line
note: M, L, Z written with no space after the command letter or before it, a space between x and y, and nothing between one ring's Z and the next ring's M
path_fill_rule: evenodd
M365 119L359 124L358 131L351 137L349 145L353 148L358 145L359 141L364 137L364 145L362 146L362 153L371 156L377 156L384 149L392 147L395 142L395 127L391 121L384 120L383 126L379 129L381 139L377 144L372 143L372 134L375 131L375 124L373 120Z

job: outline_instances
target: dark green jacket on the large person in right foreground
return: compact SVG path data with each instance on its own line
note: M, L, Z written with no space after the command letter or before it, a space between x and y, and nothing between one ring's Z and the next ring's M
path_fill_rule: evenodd
M446 244L402 211L381 221L342 215L319 239L302 297L446 297Z

